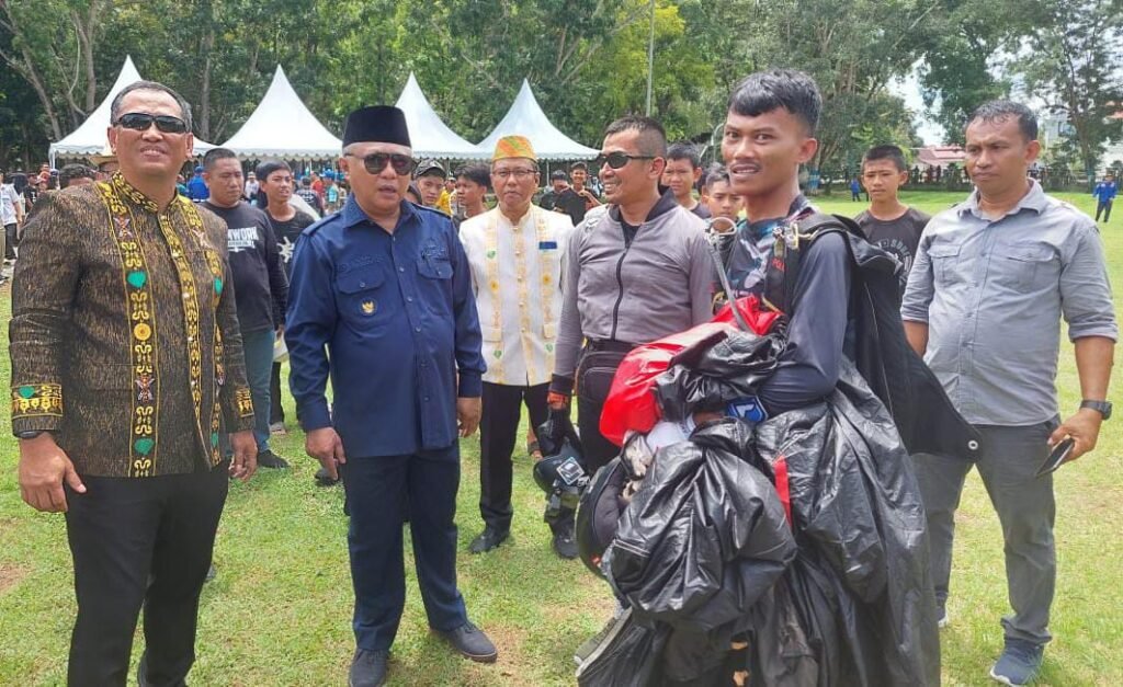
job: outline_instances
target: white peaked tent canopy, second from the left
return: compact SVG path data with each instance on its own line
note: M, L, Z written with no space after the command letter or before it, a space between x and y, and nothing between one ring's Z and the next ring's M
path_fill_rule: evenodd
M304 107L277 65L257 109L222 147L246 159L334 159L339 157L343 143Z

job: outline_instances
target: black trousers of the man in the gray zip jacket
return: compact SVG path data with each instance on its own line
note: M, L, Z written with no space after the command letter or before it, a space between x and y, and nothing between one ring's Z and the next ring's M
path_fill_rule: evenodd
M585 470L596 474L601 467L620 454L620 447L601 433L601 411L612 388L612 378L624 359L630 345L619 341L597 344L591 341L577 364L577 429L585 458Z

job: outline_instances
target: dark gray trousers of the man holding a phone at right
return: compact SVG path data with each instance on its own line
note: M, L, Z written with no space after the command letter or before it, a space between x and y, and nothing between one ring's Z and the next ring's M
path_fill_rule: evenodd
M1002 523L1006 588L1014 610L1002 619L1002 626L1007 639L1037 644L1051 639L1049 607L1057 581L1057 507L1052 476L1034 477L1034 473L1049 455L1046 441L1056 427L1056 420L1028 427L976 425L984 440L977 467ZM914 456L914 465L928 514L935 597L942 607L951 577L956 509L973 464L921 454Z

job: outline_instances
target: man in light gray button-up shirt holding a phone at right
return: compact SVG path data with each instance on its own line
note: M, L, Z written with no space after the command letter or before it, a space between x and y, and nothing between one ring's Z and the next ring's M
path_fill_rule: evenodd
M979 475L1002 522L1014 613L990 676L1024 685L1049 634L1057 576L1052 477L1037 477L1050 447L1075 440L1071 459L1096 446L1117 326L1095 223L1028 178L1040 152L1022 104L996 101L966 130L976 192L932 218L902 304L909 341L925 356L959 412L983 434ZM1057 359L1068 322L1084 402L1060 422ZM941 610L951 570L953 516L970 464L917 456ZM941 624L947 621L946 612Z

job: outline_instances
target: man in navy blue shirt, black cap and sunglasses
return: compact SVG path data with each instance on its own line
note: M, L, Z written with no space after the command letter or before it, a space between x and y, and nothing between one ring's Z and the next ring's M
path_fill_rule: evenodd
M467 658L496 659L456 586L457 440L480 424L480 321L451 220L404 200L411 155L401 110L351 112L340 167L353 193L304 230L292 260L296 414L308 454L341 473L350 509L356 687L385 679L405 603L403 513L429 625Z

